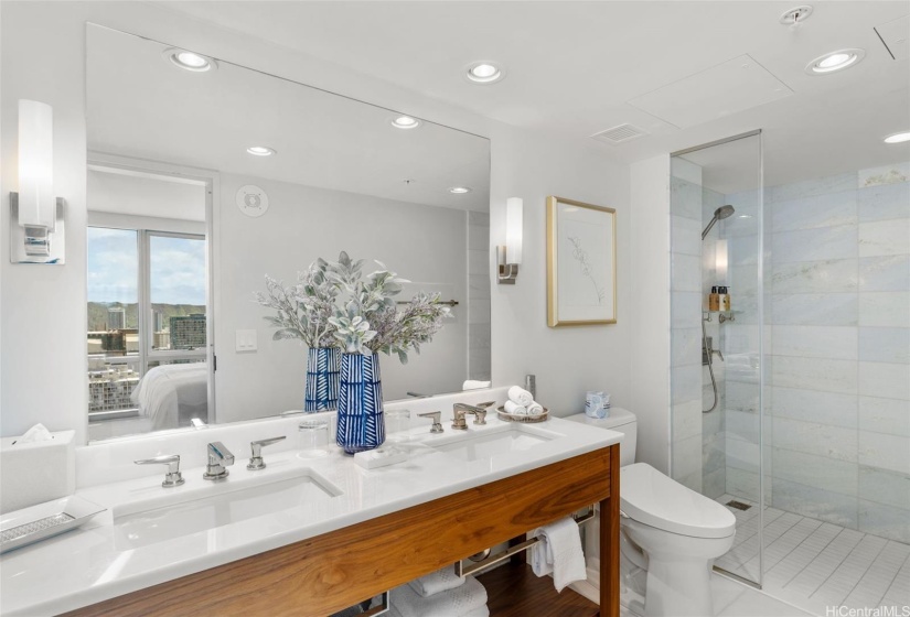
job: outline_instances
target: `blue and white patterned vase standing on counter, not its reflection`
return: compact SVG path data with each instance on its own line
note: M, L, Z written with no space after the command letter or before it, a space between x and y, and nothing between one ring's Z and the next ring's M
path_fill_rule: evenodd
M342 354L338 444L346 454L379 447L385 441L379 356Z

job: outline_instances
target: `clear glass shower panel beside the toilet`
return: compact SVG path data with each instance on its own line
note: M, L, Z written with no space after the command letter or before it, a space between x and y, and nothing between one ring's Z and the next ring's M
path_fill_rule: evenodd
M761 584L761 133L671 159L672 477L737 518L715 562Z

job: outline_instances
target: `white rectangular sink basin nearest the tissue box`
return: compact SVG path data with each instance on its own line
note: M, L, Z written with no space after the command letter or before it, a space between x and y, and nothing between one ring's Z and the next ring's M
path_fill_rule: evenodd
M245 481L237 487L225 483L211 488L223 490L205 496L196 491L185 500L168 505L152 500L144 509L138 505L138 511L137 505L119 508L122 513L115 508L116 548L137 549L281 510L312 508L341 495L336 487L309 469L264 478L263 483ZM165 497L179 498L176 495Z

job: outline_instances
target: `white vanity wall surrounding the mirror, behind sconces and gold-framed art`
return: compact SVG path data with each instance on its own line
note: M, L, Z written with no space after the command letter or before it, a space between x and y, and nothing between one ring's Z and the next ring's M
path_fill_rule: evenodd
M560 144L493 122L443 101L376 78L255 41L191 19L174 19L160 4L135 2L3 2L0 152L14 160L15 101L36 98L54 106L57 192L69 202L67 264L24 268L0 259L0 431L23 432L36 421L52 430L75 427L85 439L85 22L92 21L188 46L227 61L265 68L302 83L383 105L492 139L491 243L502 240L505 199L525 199L525 263L517 285L492 290L492 356L495 383L538 376L539 398L557 413L581 409L584 391L607 389L614 403L634 411L630 396L633 314L631 212L628 166L599 150ZM2 213L15 186L14 165L3 165ZM544 199L560 195L617 208L619 323L614 326L546 327ZM665 259L665 257L664 257ZM490 267L492 268L491 257ZM666 280L661 280L665 286ZM642 281L636 280L636 284ZM653 325L653 324L651 324ZM636 343L638 344L638 343ZM49 388L49 380L54 387ZM664 401L666 404L666 401ZM646 413L651 412L650 410ZM653 423L649 423L651 426ZM641 432L640 432L641 433ZM640 447L651 441L640 436ZM659 437L660 441L660 437ZM646 448L644 448L646 450ZM660 450L660 448L659 448Z

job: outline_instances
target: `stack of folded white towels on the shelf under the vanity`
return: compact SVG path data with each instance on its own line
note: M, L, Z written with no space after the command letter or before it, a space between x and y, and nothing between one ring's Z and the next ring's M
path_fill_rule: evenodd
M390 617L488 617L486 589L451 566L392 589Z

